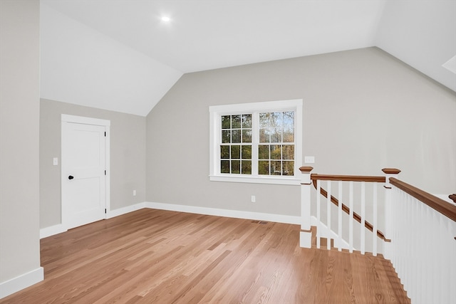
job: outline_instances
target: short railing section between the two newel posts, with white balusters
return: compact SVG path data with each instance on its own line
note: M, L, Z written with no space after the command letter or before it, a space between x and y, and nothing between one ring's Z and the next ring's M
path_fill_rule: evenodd
M328 175L328 174L311 174L312 167L301 167L302 172L302 181L301 181L301 235L300 243L301 247L310 248L311 247L311 226L317 226L316 229L316 247L321 247L321 237L324 236L328 241L326 242L326 247L331 248L331 241L329 239L335 240L335 246L341 251L343 248L348 249L348 251L353 252L354 248L354 234L353 234L353 221L348 220L348 241L344 240L343 237L343 213L348 214L349 219L354 219L359 224L359 235L356 240L359 250L362 254L366 253L366 229L371 231L371 248L368 250L373 253L374 256L378 253L377 238L389 242L390 240L383 234L382 231L378 230L378 183L385 184L386 177L392 174L398 174L400 170L398 169L383 169L383 173L386 176L375 177L375 176L358 176L358 175ZM334 196L331 192L332 185L335 183L335 189L337 189L337 197ZM343 197L343 189L346 189L348 183L348 206L341 201ZM353 184L358 183L361 186L361 213L358 214L353 210L354 208L354 190ZM311 184L314 185L316 189L316 202L314 204L316 216L311 216ZM366 214L366 184L371 184L371 198L372 203L369 205L371 209L371 214L367 216ZM323 187L326 187L324 189ZM321 203L323 198L326 201L326 204ZM333 232L331 228L333 222L333 216L331 214L331 204L337 206L337 232ZM321 214L326 207L326 221L323 223L323 216ZM373 224L370 221L366 220L369 217ZM347 238L345 238L347 239Z

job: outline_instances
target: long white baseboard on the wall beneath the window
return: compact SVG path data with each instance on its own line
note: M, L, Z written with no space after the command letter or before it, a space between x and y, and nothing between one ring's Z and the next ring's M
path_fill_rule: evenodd
M150 209L188 212L213 216L226 216L235 219L254 219L257 221L275 221L284 224L301 224L301 216L290 216L283 214L266 214L252 211L239 211L229 209L207 208L199 206L187 206L177 204L164 204L146 201L145 206Z

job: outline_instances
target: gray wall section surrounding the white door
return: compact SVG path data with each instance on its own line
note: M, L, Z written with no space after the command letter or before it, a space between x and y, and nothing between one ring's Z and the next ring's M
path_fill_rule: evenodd
M145 117L41 99L41 228L61 224L61 114L110 120L110 209L145 201Z

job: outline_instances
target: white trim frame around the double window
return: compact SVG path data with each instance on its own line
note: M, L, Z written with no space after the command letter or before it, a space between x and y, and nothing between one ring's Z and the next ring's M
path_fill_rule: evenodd
M212 105L209 107L209 180L214 182L247 182L254 184L301 184L299 167L302 161L302 99L277 100L261 103L240 103L233 105ZM249 111L276 112L294 110L294 176L251 176L244 174L220 174L219 173L219 126L221 115L245 114ZM257 130L255 130L257 131ZM253 136L253 135L252 135ZM253 155L253 152L252 152ZM254 159L252 159L253 161Z

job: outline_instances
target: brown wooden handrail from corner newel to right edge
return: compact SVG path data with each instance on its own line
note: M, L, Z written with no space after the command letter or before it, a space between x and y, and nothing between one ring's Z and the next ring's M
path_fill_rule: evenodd
M403 192L410 194L411 196L415 197L419 201L422 201L427 206L430 206L432 209L439 211L441 214L447 216L447 218L456 221L456 206L450 204L443 199L438 198L437 196L433 196L417 187L413 187L410 184L400 181L399 179L395 179L394 177L390 177L390 184L395 187L398 187Z

